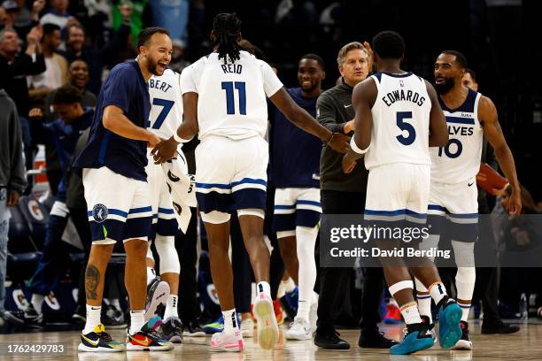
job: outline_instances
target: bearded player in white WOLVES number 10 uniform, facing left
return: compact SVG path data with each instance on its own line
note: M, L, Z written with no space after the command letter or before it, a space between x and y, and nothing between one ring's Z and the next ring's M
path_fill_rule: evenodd
M429 223L432 235L423 248L436 247L443 229L452 240L457 274L457 302L461 306L461 340L454 349L472 349L468 338L468 311L474 292L476 268L474 245L477 239L478 191L476 173L480 169L485 136L512 187L508 203L511 215L522 208L514 157L507 146L491 99L462 84L467 60L458 51L442 52L435 62L435 88L445 114L450 140L431 150ZM445 225L445 223L447 223ZM416 280L422 316L431 323L430 297Z

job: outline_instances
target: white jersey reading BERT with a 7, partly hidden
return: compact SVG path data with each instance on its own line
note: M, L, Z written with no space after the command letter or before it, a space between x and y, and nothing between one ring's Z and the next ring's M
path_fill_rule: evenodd
M161 76L152 75L149 80L151 114L147 129L161 138L170 138L182 123L180 82L180 74L171 69Z

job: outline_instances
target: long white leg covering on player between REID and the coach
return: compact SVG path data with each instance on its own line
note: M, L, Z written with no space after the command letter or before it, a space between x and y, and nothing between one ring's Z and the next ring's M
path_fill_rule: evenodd
M298 290L299 305L298 317L308 321L313 298L314 283L316 282L316 260L314 259L314 247L318 227L296 227L296 241L298 251Z

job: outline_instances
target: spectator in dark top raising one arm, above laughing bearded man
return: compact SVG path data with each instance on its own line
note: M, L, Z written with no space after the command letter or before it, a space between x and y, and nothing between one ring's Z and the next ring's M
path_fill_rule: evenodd
M131 8L121 9L123 22L112 35L111 40L102 49L85 46L86 32L81 25L72 25L67 28L66 51L62 55L68 63L75 59L84 60L89 66L89 90L98 94L102 85L102 73L104 65L114 65L114 54L126 47L128 35L130 34Z

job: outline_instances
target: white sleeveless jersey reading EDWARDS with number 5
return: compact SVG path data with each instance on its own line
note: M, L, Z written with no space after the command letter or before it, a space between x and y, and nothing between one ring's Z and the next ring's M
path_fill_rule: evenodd
M371 109L371 146L367 169L391 163L430 165L431 100L425 81L413 73L376 73L378 95Z

